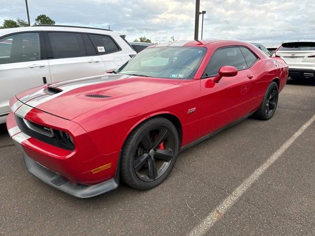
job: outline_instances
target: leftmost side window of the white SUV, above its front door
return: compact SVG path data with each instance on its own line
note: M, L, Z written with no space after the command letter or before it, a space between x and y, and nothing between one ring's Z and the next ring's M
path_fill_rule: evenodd
M0 64L40 59L39 35L18 33L0 39Z

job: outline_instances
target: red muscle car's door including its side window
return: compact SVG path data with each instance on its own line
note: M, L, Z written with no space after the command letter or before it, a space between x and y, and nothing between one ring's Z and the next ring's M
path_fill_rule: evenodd
M236 67L238 74L234 77L222 77L219 83L214 83L212 80L224 65ZM239 47L225 47L214 52L200 80L200 137L252 111L253 77Z

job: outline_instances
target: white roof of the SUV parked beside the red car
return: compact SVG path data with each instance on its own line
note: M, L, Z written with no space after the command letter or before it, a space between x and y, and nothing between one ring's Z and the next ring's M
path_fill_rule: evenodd
M19 28L9 28L9 29L0 29L0 36L16 33L16 32L24 32L24 31L70 31L70 32L87 32L87 33L101 33L107 35L121 35L119 32L115 32L108 29L99 29L99 28L89 28L89 27L80 27L80 26L46 26L46 25L38 25L31 27L19 27Z

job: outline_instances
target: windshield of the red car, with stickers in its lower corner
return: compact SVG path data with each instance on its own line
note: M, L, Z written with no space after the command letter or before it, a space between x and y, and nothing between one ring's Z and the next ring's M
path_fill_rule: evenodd
M167 79L192 79L205 53L206 48L203 47L147 48L115 72Z

